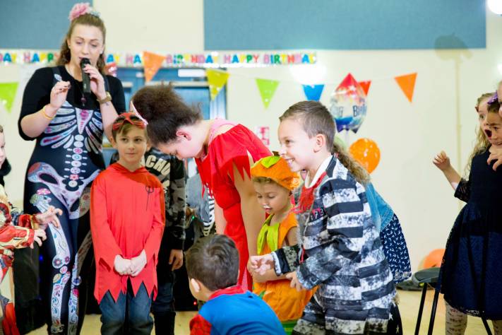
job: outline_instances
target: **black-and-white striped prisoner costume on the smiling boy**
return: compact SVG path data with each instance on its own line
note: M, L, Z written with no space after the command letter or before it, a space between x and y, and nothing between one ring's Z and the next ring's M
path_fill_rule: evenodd
M342 333L385 331L393 303L393 276L371 220L366 190L333 157L310 211L298 214L299 247L273 252L275 271L296 269L305 288L343 324ZM304 262L299 263L299 249Z

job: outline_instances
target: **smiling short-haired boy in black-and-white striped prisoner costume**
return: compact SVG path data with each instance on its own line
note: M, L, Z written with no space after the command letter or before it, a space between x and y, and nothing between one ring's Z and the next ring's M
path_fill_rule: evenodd
M297 290L318 286L293 334L402 334L366 191L331 153L334 136L319 102L298 102L280 117L280 154L292 171L306 170L295 208L300 244L253 256L251 266L287 274Z

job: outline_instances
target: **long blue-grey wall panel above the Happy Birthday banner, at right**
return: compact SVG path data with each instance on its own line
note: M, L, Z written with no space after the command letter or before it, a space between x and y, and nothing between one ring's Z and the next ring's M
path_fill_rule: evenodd
M207 50L486 47L482 0L204 0Z

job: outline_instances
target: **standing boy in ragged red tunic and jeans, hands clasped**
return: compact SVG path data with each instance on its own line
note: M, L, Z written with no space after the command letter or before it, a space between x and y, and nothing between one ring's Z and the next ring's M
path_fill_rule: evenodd
M97 176L91 189L94 295L102 312L101 333L150 334L165 225L164 190L141 166L147 146L144 122L136 114L121 114L112 135L119 160Z

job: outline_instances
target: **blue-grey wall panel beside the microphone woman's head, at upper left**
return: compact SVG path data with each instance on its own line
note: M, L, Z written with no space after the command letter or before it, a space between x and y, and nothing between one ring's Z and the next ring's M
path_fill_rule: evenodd
M81 1L0 0L0 48L59 49L70 25L68 13Z

